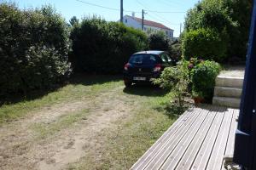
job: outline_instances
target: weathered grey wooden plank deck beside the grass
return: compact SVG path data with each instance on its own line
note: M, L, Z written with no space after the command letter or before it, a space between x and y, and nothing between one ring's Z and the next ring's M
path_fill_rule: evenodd
M224 170L223 157L233 155L238 114L213 105L189 109L131 169Z

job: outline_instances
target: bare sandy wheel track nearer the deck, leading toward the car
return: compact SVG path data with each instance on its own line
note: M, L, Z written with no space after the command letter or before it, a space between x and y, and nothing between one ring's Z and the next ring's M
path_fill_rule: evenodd
M115 110L105 111L102 115L91 116L87 123L84 122L86 126L76 129L73 133L67 132L62 135L66 136L66 138L55 142L50 151L52 154L49 152L48 158L38 163L38 168L61 169L66 167L68 163L78 161L79 158L86 155L86 152L95 152L97 145L100 144L99 141L102 140L101 131L112 127L113 122L127 114L127 112L123 111L124 107L119 102L115 106ZM63 147L60 147L56 153L55 146L58 145ZM49 163L48 160L54 160L54 162Z

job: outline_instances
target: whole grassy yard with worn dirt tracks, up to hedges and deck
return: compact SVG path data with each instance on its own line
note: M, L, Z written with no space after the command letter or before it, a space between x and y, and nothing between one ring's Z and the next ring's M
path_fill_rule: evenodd
M3 167L129 169L176 121L169 101L159 88L128 89L119 77L79 76L38 99L2 105ZM13 150L11 135L24 154Z

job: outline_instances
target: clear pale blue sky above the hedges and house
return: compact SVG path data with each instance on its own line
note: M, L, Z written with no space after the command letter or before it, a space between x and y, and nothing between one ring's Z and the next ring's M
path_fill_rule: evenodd
M119 20L120 15L119 10L108 9L118 9L120 0L12 0L12 2L17 3L20 8L36 8L44 4L51 4L66 20L74 15L82 18L84 15L93 14L100 15L105 20ZM185 12L197 2L198 0L124 0L124 9L126 10L124 15L131 15L131 11L134 11L137 12L136 16L141 18L141 11L145 9L146 20L154 20L172 28L174 37L178 37L179 25L184 21ZM99 8L86 3L94 3L108 8ZM156 13L153 11L182 13Z

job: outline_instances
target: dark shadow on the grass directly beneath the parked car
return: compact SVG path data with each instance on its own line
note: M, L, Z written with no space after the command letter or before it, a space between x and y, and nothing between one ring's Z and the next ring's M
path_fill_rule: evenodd
M125 94L135 94L140 96L152 96L152 97L161 97L165 96L168 91L153 86L151 84L134 84L131 88L124 88L123 92Z

